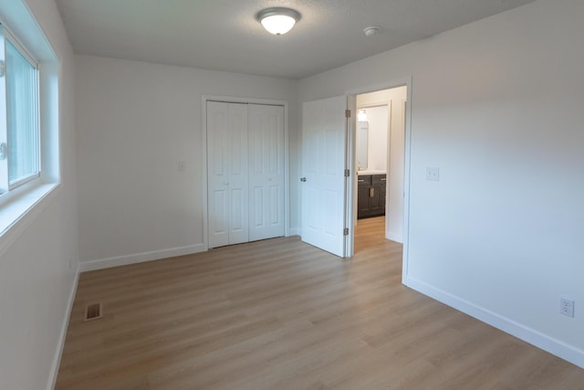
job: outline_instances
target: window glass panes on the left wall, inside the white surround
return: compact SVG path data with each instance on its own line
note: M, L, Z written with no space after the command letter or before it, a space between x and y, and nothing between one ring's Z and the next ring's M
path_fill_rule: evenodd
M40 174L39 91L36 61L5 29L0 30L0 91L5 112L0 122L0 193Z

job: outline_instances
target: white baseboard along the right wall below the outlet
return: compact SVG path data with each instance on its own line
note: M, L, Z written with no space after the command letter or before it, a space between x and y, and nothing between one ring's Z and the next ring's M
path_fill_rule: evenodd
M572 345L563 343L542 332L537 332L534 329L528 328L521 323L510 320L493 311L488 311L485 308L476 306L474 303L469 302L468 300L463 300L449 292L436 289L420 280L407 278L404 284L413 290L422 292L422 294L427 295L434 300L441 301L458 311L463 311L465 314L468 314L477 320L488 323L503 332L509 333L524 342L535 345L537 348L555 354L569 363L584 368L584 351L579 350Z

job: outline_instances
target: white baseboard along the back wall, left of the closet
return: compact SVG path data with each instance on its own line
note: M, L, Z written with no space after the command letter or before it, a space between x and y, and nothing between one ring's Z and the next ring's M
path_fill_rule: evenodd
M174 258L176 256L191 255L206 251L204 244L196 244L188 247L169 248L162 250L153 250L151 252L136 253L127 256L118 256L115 258L99 258L97 260L81 262L81 272L92 271L95 269L109 269L111 267L127 266L129 264L143 263L145 261L160 260L162 258Z

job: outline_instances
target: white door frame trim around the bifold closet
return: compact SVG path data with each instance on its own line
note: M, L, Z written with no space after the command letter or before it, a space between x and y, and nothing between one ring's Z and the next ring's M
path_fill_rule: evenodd
M220 101L224 103L240 104L263 104L267 106L284 107L284 236L290 235L290 156L289 156L289 132L288 132L288 102L286 100L255 99L245 97L223 96L223 95L203 95L201 109L201 134L203 153L201 153L201 188L203 189L202 209L203 209L203 250L209 250L209 199L208 177L207 177L207 101Z

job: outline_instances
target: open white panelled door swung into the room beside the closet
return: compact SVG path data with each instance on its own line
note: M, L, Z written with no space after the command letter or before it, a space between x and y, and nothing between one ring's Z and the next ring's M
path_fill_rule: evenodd
M345 256L347 97L305 102L302 123L302 240Z

